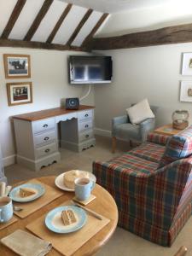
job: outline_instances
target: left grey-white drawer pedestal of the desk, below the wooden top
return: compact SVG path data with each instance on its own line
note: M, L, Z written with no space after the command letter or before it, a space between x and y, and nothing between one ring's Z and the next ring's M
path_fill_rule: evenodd
M14 119L17 163L38 171L61 160L55 118L26 121Z

